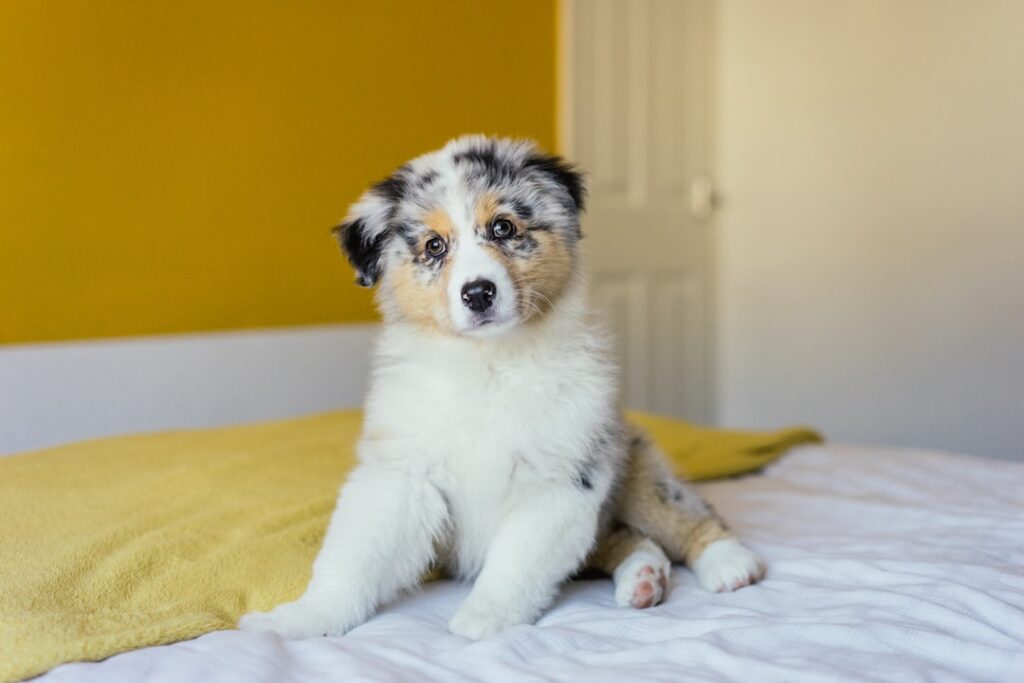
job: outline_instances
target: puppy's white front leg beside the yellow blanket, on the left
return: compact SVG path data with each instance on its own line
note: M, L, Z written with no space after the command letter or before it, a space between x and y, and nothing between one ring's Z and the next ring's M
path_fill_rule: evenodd
M360 465L341 489L306 592L243 616L239 628L286 638L345 633L421 579L446 515L422 476Z

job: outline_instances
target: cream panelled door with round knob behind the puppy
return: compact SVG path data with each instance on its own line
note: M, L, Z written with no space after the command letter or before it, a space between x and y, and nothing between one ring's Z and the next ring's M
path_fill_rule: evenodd
M709 0L564 0L562 152L628 408L710 421Z

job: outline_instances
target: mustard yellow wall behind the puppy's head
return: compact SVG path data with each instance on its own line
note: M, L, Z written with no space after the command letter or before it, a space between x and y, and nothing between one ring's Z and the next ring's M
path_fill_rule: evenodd
M554 142L550 0L0 2L0 343L364 321L330 227L464 132Z

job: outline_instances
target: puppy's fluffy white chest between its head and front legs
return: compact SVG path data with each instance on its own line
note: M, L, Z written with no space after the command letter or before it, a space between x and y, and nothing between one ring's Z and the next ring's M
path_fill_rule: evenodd
M385 332L360 457L442 492L459 573L478 571L509 509L572 485L588 440L616 410L605 346L582 319L501 341Z

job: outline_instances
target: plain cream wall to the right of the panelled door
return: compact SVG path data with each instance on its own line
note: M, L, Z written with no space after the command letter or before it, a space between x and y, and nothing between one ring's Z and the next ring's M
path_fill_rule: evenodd
M1024 2L716 27L718 421L1024 458Z

